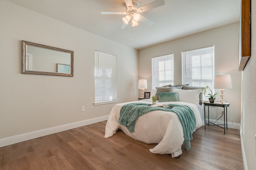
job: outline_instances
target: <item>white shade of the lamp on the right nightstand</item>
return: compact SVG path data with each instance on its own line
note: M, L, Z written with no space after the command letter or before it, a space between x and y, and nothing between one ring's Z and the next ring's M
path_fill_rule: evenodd
M214 77L214 89L232 89L231 77L229 74L217 75Z

